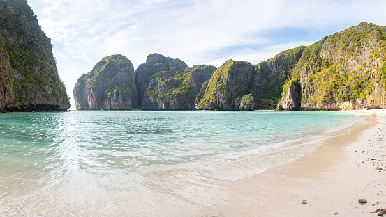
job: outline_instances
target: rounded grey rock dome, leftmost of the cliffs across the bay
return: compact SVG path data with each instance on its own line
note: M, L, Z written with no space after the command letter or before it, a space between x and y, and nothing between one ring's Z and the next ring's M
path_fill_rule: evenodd
M103 58L77 80L74 99L78 110L138 108L133 64L122 55Z

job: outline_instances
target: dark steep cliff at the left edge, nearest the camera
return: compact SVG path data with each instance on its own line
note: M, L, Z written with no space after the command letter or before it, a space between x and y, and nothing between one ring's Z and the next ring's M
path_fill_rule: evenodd
M66 111L50 38L27 1L0 1L0 110Z

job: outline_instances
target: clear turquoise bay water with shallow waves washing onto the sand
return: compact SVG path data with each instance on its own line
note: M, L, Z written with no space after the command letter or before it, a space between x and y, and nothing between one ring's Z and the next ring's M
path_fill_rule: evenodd
M0 215L191 214L221 204L226 182L297 159L358 120L341 112L2 113Z

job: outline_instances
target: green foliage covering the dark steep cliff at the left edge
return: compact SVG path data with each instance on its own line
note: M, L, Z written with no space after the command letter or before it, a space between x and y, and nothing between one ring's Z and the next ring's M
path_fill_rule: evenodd
M19 81L20 90L15 94L15 103L26 104L27 93L34 90L40 92L43 100L69 103L66 87L57 73L51 40L41 30L27 1L0 1L0 29L6 33L2 37L7 41L10 65L23 77ZM48 86L52 94L47 92Z

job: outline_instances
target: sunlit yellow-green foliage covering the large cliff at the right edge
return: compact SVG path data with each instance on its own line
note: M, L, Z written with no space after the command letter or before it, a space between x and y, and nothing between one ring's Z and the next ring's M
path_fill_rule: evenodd
M379 57L383 59L379 78L386 90L385 36L384 27L361 23L306 47L283 86L282 97L288 85L302 77L306 82L303 93L307 93L302 95L302 102L312 106L336 101L364 103L373 91L377 72L372 72L372 66L366 65L365 62L350 71L348 65L349 61L355 61L357 56L368 55L362 54L365 50L371 51L372 55L368 56L370 63ZM307 91L304 92L305 90Z

